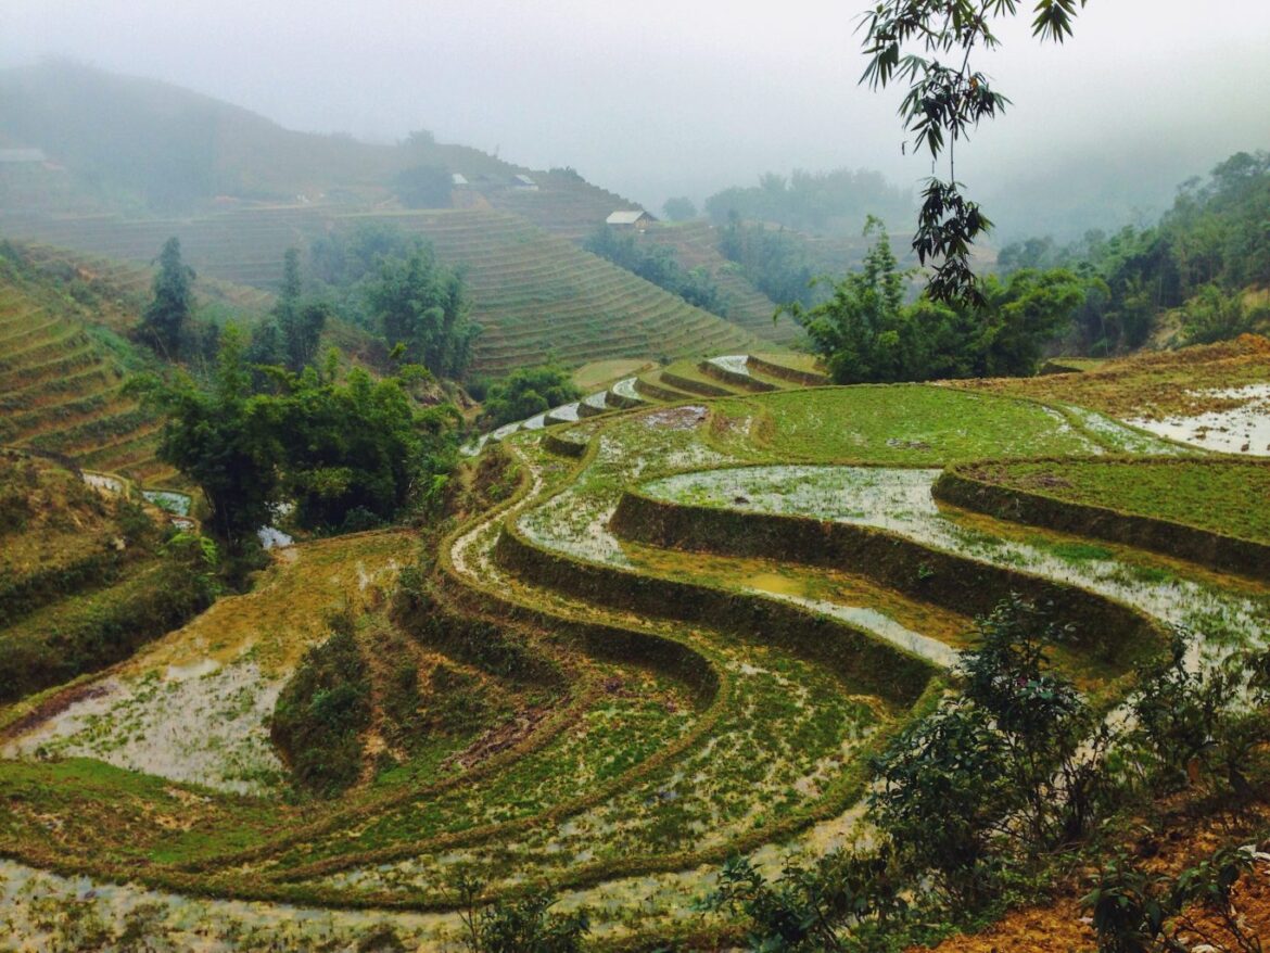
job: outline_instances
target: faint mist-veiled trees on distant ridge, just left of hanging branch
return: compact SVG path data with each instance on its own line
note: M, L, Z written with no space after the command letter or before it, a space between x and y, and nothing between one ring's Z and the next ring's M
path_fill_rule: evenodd
M715 225L735 215L799 231L855 233L867 215L903 219L912 215L912 196L886 182L881 173L850 169L810 173L795 169L787 179L765 173L758 186L733 187L706 199Z

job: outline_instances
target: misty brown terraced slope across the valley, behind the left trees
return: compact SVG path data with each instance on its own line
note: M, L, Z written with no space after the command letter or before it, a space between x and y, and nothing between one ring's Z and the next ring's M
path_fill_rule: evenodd
M705 356L757 343L740 325L693 308L526 219L488 208L334 213L277 207L192 221L15 219L6 227L131 262L150 262L177 235L184 259L201 274L272 290L288 247L302 248L328 229L362 222L392 222L420 234L442 260L466 269L472 316L484 328L476 366L486 374L541 363L549 356L580 365L618 357ZM759 323L754 330L770 328Z

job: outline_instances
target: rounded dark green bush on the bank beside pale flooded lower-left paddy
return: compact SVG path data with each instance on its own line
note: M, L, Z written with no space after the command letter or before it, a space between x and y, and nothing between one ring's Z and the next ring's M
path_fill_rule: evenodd
M297 787L319 797L334 797L357 781L358 733L371 719L370 670L353 620L335 618L331 628L326 642L305 653L269 722Z

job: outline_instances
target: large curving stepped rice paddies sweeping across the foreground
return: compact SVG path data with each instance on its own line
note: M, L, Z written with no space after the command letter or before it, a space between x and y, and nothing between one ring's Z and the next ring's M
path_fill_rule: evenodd
M452 949L462 873L488 898L549 883L559 909L591 911L598 949L712 948L735 925L690 901L728 856L775 873L867 837L864 756L1006 593L1074 623L1057 663L1107 700L1167 624L1206 637L1200 663L1270 637L1265 576L939 485L1068 466L1086 498L1099 484L1080 474L1126 454L1214 485L1227 460L1029 398L794 390L814 368L706 363L679 370L724 396L505 433L495 464L518 489L437 543L295 546L251 595L0 710L4 915L48 943L72 928L44 911L74 909L144 910L146 935L180 948L349 945L389 924ZM1208 529L1242 522L1232 504ZM338 797L279 798L293 766L268 719L329 609L370 662L361 766ZM420 693L404 714L403 671Z

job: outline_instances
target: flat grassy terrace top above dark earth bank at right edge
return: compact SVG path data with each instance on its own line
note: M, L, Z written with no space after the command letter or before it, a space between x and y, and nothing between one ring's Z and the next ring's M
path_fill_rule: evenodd
M975 475L1072 503L1270 543L1270 463L1063 460L993 464Z

